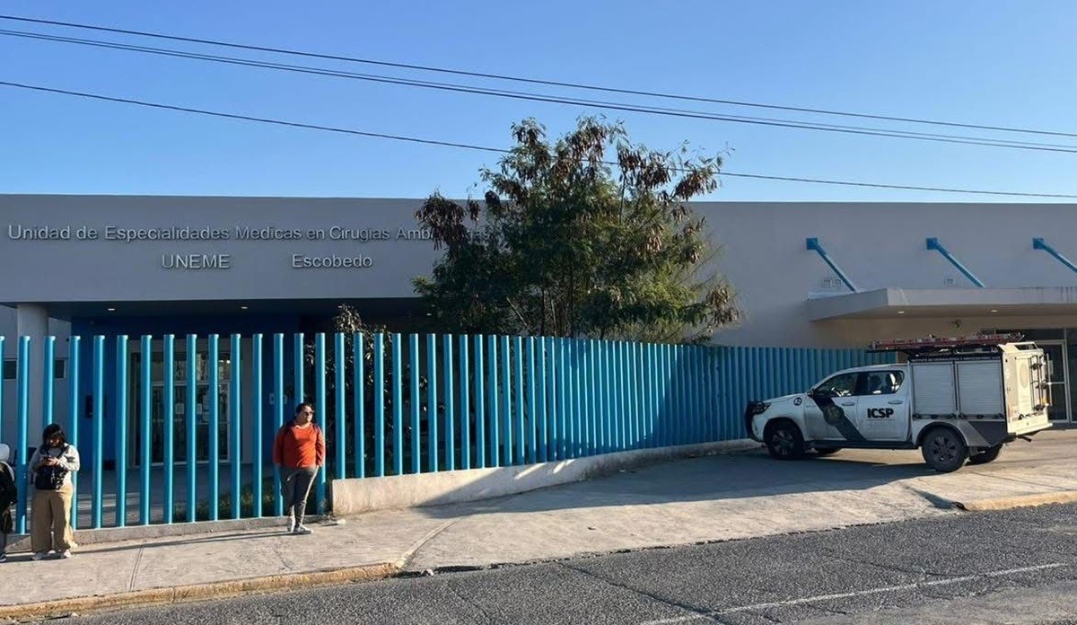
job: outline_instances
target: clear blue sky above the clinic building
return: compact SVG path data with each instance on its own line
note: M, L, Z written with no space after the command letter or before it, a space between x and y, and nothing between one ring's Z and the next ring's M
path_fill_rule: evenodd
M0 13L547 80L1077 131L1073 116L1077 3L1069 0L9 0ZM3 20L0 28L121 39ZM345 64L332 67L462 80ZM509 125L523 117L534 116L559 134L571 128L578 115L593 112L10 37L0 37L0 80L492 147L507 147ZM506 88L567 93L520 85ZM733 107L670 106L867 124ZM653 148L671 149L687 140L712 152L731 149L726 163L730 171L1077 194L1072 176L1077 154L630 112L610 115L623 120L633 139ZM0 193L422 197L438 190L462 196L476 191L478 169L496 162L493 154L206 119L10 87L0 87ZM1012 138L1077 145L1077 139L1061 137ZM711 198L1030 202L736 178L723 179L723 188Z

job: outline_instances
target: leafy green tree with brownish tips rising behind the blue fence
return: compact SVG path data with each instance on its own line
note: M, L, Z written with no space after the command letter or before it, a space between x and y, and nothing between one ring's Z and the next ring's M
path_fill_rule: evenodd
M699 342L739 319L688 206L721 157L647 150L593 117L556 142L534 120L513 137L481 202L434 194L416 213L445 249L415 279L439 330Z

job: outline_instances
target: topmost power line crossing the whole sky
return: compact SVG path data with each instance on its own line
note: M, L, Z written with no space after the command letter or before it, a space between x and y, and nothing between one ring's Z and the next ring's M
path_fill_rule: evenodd
M536 85L544 85L544 86L557 86L557 87L567 87L567 88L575 88L575 89L587 89L587 91L604 92L604 93L613 93L613 94L621 94L621 95L644 96L644 97L653 97L653 98L665 98L665 99L682 100L682 101L693 101L693 102L707 102L707 103L713 103L713 105L728 105L728 106L749 107L749 108L758 108L758 109L770 109L770 110L779 110L779 111L793 111L793 112L799 112L799 113L814 113L814 114L821 114L821 115L839 115L839 116L847 116L847 117L859 117L859 119L865 119L865 120L878 120L878 121L886 121L886 122L904 122L904 123L910 123L910 124L929 124L929 125L935 125L935 126L949 126L949 127L956 127L956 128L971 128L971 129L978 129L978 130L995 130L995 131L1001 131L1001 133L1023 133L1023 134L1031 134L1031 135L1048 135L1048 136L1055 136L1055 137L1077 137L1077 133L1063 133L1063 131L1055 131L1055 130L1039 130L1039 129L1033 129L1033 128L1018 128L1018 127L1012 127L1012 126L993 126L993 125L985 125L985 124L969 124L969 123L960 123L960 122L943 122L943 121L939 121L939 120L926 120L926 119L920 119L920 117L901 117L901 116L893 116L893 115L877 115L877 114L870 114L870 113L854 113L854 112L849 112L849 111L836 111L836 110L828 110L828 109L814 109L814 108L807 108L807 107L791 107L791 106L782 106L782 105L768 105L768 103L761 103L761 102L750 102L750 101L744 101L744 100L730 100L730 99L721 99L721 98L707 98L707 97L701 97L701 96L687 96L687 95L670 94L670 93L662 93L662 92L651 92L651 91L641 91L641 89L609 87L609 86L601 86L601 85L590 85L590 84L585 84L585 83L573 83L573 82L564 82L564 81L550 81L550 80L541 80L541 79L529 79L529 78L514 77L514 75L507 75L507 74L496 74L496 73L487 73L487 72L466 71L466 70L458 70L458 69L449 69L449 68L439 68L439 67L433 67L433 66L405 64L405 63L393 63L393 61L377 60L377 59L369 59L369 58L359 58L359 57L335 55L335 54L321 54L321 53L313 53L313 52L306 52L306 51L298 51L298 50L290 50L290 48L282 48L282 47L271 47L271 46L265 46L265 45L249 45L249 44L226 42L226 41L220 41L220 40L198 39L198 38L193 38L193 37L180 37L180 36L176 36L176 34L165 34L165 33L160 33L160 32L150 32L150 31L144 31L144 30L129 30L129 29L123 29L123 28L110 28L110 27L104 27L104 26L93 26L93 25L88 25L88 24L76 24L76 23L72 23L72 22L59 22L59 20L54 20L54 19L39 19L39 18L32 18L32 17L20 17L20 16L16 16L16 15L0 15L0 19L8 19L8 20L12 20L12 22L23 22L23 23L29 23L29 24L42 24L42 25L48 25L48 26L62 26L62 27L68 27L68 28L80 28L80 29L96 30L96 31L101 31L101 32L114 32L114 33L120 33L120 34L134 34L134 36L137 36L137 37L149 37L149 38L165 39L165 40L171 40L171 41L183 41L183 42L187 42L187 43L199 43L199 44L206 44L206 45L216 45L216 46L222 46L222 47L232 47L232 48L236 48L236 50L249 50L249 51L257 51L257 52L268 52L268 53L274 53L274 54L285 54L285 55L292 55L292 56L303 56L303 57L308 57L308 58L320 58L320 59L325 59L325 60L341 60L341 61L347 61L347 63L358 63L358 64L364 64L364 65L374 65L374 66L381 66L381 67L392 67L392 68L397 68L397 69L409 69L409 70L429 71L429 72L447 73L447 74L454 74L454 75L464 75L464 77L471 77L471 78L481 78L481 79L490 79L490 80L510 81L510 82L518 82L518 83L529 83L529 84L536 84Z

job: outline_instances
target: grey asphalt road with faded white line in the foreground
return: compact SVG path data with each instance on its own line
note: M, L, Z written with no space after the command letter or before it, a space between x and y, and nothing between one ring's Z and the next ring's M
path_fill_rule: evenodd
M78 622L1077 623L1077 505L297 589Z

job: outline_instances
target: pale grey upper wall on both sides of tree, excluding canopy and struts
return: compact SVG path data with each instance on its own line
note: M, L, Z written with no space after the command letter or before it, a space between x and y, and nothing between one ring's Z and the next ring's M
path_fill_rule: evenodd
M415 227L419 199L0 196L0 302L79 302L214 298L355 298L414 294L410 280L429 273L437 252L429 241L238 241L241 226L304 231L333 226ZM724 248L717 266L740 293L745 318L722 333L736 345L858 345L865 337L909 332L953 333L951 320L808 320L809 293L835 277L805 247L817 237L830 256L864 290L885 287L967 288L968 280L941 254L925 248L938 237L988 287L1077 284L1071 272L1044 251L1045 237L1077 259L1077 206L1006 204L701 203L714 240ZM224 241L11 240L9 226L216 227ZM219 270L162 267L163 253L228 253ZM368 269L295 269L293 253L369 255ZM830 292L844 293L843 287ZM10 324L0 311L0 332ZM1043 327L1047 320L991 319L990 327ZM1054 320L1077 327L1077 320ZM976 329L979 321L967 320ZM9 347L11 349L12 347Z

